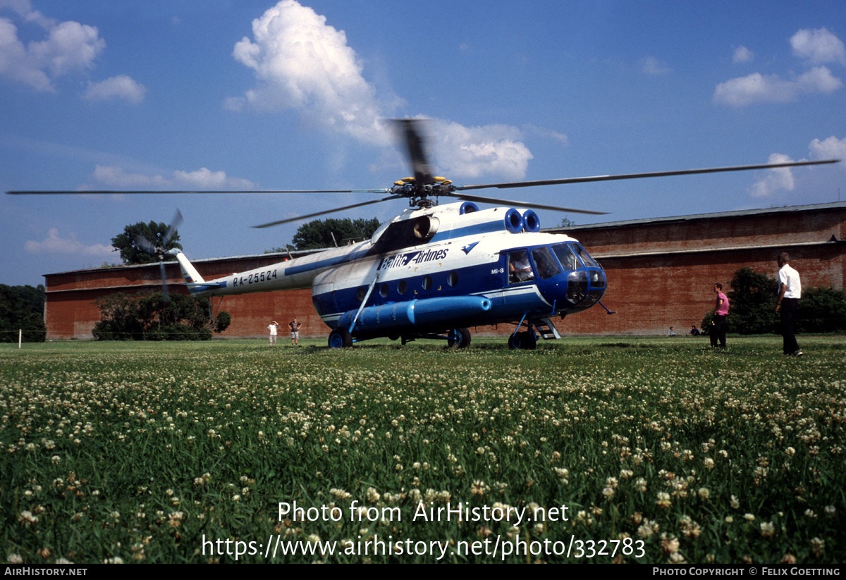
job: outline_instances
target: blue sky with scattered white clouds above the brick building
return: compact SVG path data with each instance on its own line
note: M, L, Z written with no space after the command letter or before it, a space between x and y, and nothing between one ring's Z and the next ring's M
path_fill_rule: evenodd
M0 0L0 189L389 187L381 121L406 117L458 184L846 158L844 41L829 1ZM487 191L596 223L846 200L846 167ZM177 208L200 259L367 199L3 194L0 283L117 263L111 238Z

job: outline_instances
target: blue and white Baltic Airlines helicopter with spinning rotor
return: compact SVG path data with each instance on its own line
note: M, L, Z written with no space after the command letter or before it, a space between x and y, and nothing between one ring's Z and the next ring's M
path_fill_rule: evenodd
M534 210L587 214L606 212L501 200L466 192L839 161L790 161L455 185L447 178L437 177L432 170L420 123L420 119L393 122L400 139L404 140L414 175L394 182L391 188L239 192L387 194L387 197L378 200L255 227L272 227L383 201L408 200L409 208L383 223L370 239L207 281L181 250L170 250L179 262L189 293L198 298L209 298L211 304L212 297L310 288L317 314L332 329L328 337L328 346L332 348L351 347L355 342L377 337L399 339L403 344L420 338L440 339L446 340L450 347L464 348L470 345L469 327L512 324L515 330L509 333L508 347L533 349L539 338L560 338L554 319L563 320L567 315L590 309L596 304L600 304L608 314L614 314L601 302L607 287L602 266L576 239L563 234L541 233L540 219ZM84 193L147 192L101 190ZM441 198L457 201L440 205ZM494 203L497 207L483 210L478 203Z

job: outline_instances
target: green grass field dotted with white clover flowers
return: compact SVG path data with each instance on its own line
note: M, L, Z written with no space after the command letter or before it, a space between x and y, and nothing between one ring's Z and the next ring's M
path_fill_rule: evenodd
M780 340L4 344L0 559L842 562L846 337Z

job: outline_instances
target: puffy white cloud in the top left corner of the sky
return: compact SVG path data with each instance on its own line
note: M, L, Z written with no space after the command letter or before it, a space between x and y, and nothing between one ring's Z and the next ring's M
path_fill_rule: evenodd
M54 79L92 68L106 48L96 27L48 19L32 10L28 0L0 0L0 8L10 8L25 23L39 25L47 33L44 40L24 46L13 21L0 18L0 76L35 90L54 91Z

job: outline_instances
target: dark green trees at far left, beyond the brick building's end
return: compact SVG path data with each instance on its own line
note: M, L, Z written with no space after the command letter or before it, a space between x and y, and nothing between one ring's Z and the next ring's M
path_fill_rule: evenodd
M44 342L44 287L0 284L0 342Z

